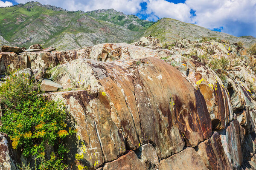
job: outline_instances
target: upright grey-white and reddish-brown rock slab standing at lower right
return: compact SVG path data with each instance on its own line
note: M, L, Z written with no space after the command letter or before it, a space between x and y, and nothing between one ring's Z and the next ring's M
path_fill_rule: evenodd
M233 170L239 170L243 161L243 155L238 121L234 119L225 130L219 133L227 159L231 163Z

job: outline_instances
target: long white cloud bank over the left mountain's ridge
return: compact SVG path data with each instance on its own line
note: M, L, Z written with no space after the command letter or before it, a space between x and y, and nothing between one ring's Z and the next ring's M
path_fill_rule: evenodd
M17 3L26 3L31 0L16 0ZM141 10L140 3L145 0L37 0L42 4L58 6L69 11L93 11L96 9L114 8L125 14L136 14Z

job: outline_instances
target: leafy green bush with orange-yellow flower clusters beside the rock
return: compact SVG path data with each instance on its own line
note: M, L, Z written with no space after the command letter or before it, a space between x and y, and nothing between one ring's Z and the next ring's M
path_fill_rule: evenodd
M65 167L60 164L67 153L63 139L75 130L67 130L63 103L48 101L39 93L38 83L29 76L11 74L0 86L0 104L3 108L0 132L10 137L13 149L42 161L47 146L52 148L54 156L47 162Z

